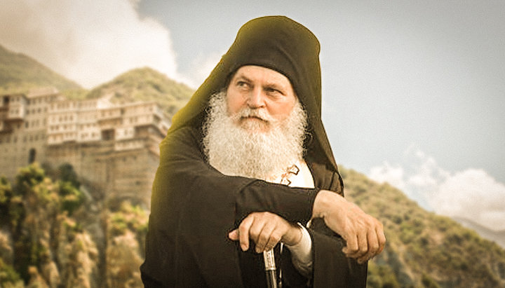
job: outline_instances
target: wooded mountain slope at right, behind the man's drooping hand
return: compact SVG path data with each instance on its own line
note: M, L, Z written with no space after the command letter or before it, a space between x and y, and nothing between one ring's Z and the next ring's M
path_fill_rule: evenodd
M346 198L384 224L369 287L505 287L505 250L448 217L426 212L388 184L342 169Z

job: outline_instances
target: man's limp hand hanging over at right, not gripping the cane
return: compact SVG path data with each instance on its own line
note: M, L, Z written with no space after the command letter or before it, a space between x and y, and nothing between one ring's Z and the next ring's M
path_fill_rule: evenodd
M346 240L342 252L356 258L358 263L372 259L384 249L386 237L382 224L337 193L319 191L312 216L323 218L332 231Z

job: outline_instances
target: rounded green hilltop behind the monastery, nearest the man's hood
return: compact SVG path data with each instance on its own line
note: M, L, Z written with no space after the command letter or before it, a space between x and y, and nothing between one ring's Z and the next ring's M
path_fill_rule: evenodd
M160 72L144 67L123 73L90 90L86 97L110 96L112 102L154 101L173 115L187 103L194 90Z

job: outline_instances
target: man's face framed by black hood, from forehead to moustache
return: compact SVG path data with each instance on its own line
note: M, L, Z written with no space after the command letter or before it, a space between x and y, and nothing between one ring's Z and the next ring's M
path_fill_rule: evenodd
M288 118L296 102L289 79L265 67L239 68L227 88L229 115L236 116L237 125L250 130L269 130L271 122ZM248 110L250 113L244 113Z

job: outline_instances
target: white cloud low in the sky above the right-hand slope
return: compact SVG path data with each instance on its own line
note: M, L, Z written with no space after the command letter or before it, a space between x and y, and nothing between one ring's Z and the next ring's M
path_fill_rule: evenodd
M476 221L493 230L505 229L505 185L484 170L450 173L419 149L405 151L402 164L372 167L369 176L388 182L427 210Z

